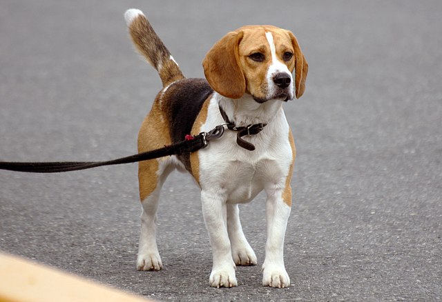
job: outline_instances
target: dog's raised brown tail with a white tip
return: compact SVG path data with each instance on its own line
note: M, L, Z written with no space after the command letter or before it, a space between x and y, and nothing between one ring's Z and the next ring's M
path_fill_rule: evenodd
M143 12L134 8L126 10L124 19L135 47L160 74L163 87L184 79L177 62L153 30Z

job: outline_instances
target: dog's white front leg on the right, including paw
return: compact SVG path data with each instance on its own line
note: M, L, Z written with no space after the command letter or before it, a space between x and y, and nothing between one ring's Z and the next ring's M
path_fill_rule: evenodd
M267 243L262 264L262 285L287 288L290 278L284 265L284 236L291 208L282 199L282 190L267 192Z

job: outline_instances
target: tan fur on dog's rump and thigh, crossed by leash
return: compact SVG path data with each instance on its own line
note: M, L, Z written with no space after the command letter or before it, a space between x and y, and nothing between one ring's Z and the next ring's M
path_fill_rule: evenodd
M144 119L138 133L138 152L146 152L164 145L171 144L168 121L161 110L160 95L155 99L152 110ZM160 160L140 161L138 165L138 180L140 183L140 200L144 201L157 188L157 171Z

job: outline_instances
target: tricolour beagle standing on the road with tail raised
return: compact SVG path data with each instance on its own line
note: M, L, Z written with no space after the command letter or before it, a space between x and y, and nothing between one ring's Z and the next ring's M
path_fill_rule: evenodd
M137 269L162 269L156 213L162 185L177 168L190 172L201 189L213 253L209 284L236 286L236 265L257 264L242 232L238 204L264 190L267 242L262 285L287 288L283 245L296 150L282 105L302 96L308 70L296 37L274 26L244 26L226 34L206 54L202 63L206 79L186 79L144 14L131 9L124 17L135 47L157 70L163 85L142 123L138 151L162 148L217 125L226 128L220 139L198 152L140 162L143 211Z

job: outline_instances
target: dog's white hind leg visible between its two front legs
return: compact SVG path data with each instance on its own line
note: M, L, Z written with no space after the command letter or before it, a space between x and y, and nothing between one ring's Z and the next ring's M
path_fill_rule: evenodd
M242 232L238 204L227 204L227 231L236 265L256 265L256 255Z

